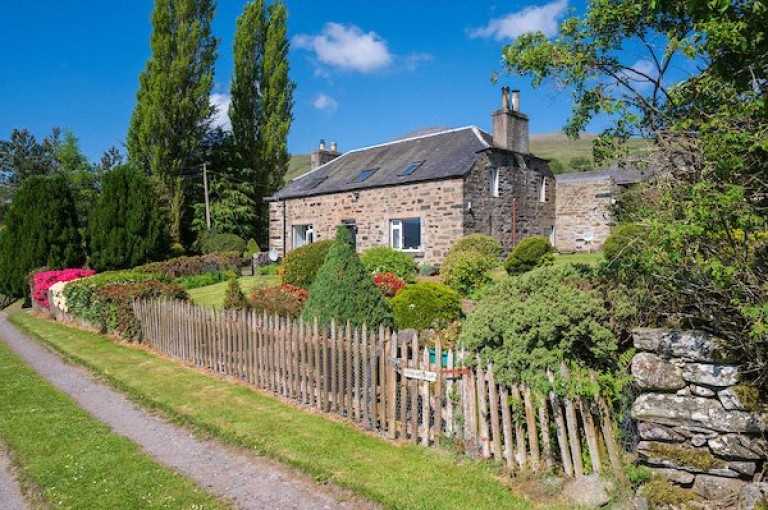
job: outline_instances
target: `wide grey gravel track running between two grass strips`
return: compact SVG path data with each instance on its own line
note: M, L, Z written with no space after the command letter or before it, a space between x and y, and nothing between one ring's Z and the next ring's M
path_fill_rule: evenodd
M375 508L270 460L237 452L149 414L86 370L65 363L20 332L0 313L0 338L32 369L69 394L113 432L243 509ZM2 492L0 492L2 495ZM3 507L6 508L6 507Z

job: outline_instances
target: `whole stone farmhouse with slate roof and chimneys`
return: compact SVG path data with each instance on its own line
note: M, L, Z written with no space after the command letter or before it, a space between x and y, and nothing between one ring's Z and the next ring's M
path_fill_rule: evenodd
M321 142L311 170L268 199L270 249L332 239L337 225L359 252L388 245L433 262L473 233L505 252L531 235L554 243L555 179L530 153L519 92L504 87L492 118L493 134L468 126L344 154Z

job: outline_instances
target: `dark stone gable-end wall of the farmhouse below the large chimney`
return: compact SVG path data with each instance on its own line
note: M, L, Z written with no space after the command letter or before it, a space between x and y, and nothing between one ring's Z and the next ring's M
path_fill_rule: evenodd
M524 156L507 152L487 152L478 159L465 184L464 235L492 235L501 241L505 255L526 237L551 238L554 178L543 162L537 161L536 167L528 163ZM491 195L493 168L499 169L498 197ZM471 208L466 208L467 203Z

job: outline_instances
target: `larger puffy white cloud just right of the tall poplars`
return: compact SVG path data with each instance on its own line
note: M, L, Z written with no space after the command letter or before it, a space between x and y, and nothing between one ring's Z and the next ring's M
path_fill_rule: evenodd
M384 39L375 32L363 32L355 25L326 23L320 34L295 36L293 45L313 51L319 63L344 71L370 73L385 69L393 62Z

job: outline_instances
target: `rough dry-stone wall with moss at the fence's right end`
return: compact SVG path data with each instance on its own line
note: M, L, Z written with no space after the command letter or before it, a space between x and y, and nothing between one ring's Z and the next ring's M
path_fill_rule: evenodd
M701 332L639 329L632 406L641 461L707 499L742 490L768 458L768 416L722 341Z

